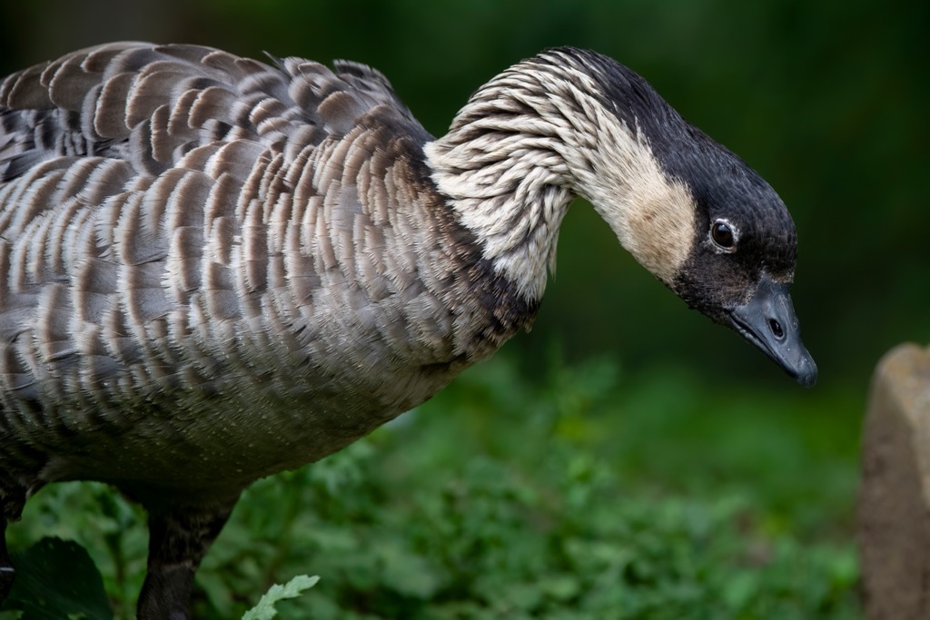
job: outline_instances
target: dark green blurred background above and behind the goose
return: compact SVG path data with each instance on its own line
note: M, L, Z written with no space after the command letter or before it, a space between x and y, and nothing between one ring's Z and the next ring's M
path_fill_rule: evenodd
M4 3L3 73L118 39L196 42L260 57L379 68L444 133L472 91L544 47L591 47L642 73L684 117L737 152L795 219L794 298L822 388L861 393L876 359L930 341L926 3L805 0L86 0ZM791 389L737 336L711 327L618 247L586 204L570 209L557 277L531 336L630 369L689 363L721 389ZM800 392L799 392L800 393Z

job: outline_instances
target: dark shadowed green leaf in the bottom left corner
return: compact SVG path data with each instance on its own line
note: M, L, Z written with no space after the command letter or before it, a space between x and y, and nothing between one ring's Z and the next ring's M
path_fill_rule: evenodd
M100 571L84 547L48 537L12 556L16 581L4 609L21 610L20 620L112 620Z

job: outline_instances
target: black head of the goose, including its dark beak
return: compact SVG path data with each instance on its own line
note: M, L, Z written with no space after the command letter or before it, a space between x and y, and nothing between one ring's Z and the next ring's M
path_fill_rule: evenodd
M670 286L688 305L736 330L804 386L817 365L801 341L789 294L797 236L777 193L693 127L657 158L695 204L694 241Z

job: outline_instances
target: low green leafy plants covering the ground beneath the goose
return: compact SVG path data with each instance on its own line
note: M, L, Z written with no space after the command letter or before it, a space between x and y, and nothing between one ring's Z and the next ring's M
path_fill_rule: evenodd
M365 441L253 485L198 574L195 617L240 617L311 571L323 580L281 617L861 617L855 402L547 366L534 383L498 356ZM27 510L18 540L70 528L131 617L135 509L57 485Z

